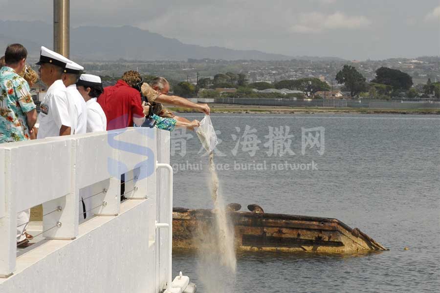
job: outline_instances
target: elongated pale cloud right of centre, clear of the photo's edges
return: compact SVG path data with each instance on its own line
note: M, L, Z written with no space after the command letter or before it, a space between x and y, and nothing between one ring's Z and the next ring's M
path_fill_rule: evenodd
M341 12L326 15L320 12L303 13L297 23L291 26L295 33L320 33L331 29L366 28L371 21L365 16L347 16Z

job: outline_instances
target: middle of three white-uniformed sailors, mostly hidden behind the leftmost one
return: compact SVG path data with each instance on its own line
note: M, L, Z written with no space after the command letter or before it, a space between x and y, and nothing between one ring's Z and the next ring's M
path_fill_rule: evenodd
M63 83L67 89L67 99L74 105L74 112L70 113L73 118L72 134L86 133L87 130L87 105L81 94L76 89L76 82L84 67L70 60L66 64L63 74Z

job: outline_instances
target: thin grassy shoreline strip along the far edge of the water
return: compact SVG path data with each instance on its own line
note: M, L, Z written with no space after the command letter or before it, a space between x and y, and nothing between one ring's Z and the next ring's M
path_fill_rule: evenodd
M384 109L384 108L332 108L332 107L276 107L259 105L210 104L212 113L260 113L260 114L319 114L319 113L359 113L359 114L440 114L440 108ZM179 113L198 113L192 109L168 107Z

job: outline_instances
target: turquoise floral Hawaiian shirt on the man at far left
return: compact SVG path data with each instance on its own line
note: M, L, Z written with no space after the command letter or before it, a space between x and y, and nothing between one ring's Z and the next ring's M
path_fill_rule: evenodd
M29 84L14 69L0 69L0 144L29 139L26 113L35 109Z

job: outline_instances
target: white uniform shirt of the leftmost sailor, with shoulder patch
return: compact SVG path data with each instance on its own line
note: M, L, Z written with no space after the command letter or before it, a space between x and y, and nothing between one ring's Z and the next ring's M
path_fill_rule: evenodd
M72 127L72 119L69 115L72 111L73 105L67 99L66 86L62 80L55 81L47 89L41 103L37 138L59 136L62 125Z

